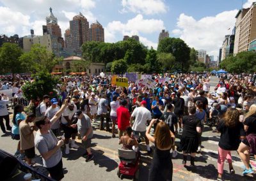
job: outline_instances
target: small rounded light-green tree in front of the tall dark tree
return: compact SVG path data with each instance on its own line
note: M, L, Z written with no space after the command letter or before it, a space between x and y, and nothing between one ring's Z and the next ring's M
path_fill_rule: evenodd
M170 53L159 53L157 54L157 62L163 71L170 71L175 64L175 57Z

